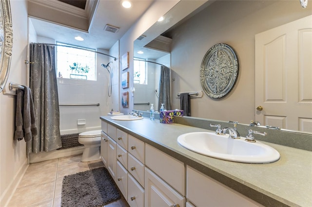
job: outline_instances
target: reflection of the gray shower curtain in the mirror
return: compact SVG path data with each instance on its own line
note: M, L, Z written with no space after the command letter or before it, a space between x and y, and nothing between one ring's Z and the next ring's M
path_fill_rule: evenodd
M171 95L170 95L170 68L166 66L160 67L160 80L159 80L159 100L158 109L161 104L164 108L171 110Z

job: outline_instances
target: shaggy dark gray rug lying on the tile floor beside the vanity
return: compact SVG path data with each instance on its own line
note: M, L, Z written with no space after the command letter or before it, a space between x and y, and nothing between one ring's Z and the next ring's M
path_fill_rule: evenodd
M121 198L106 168L64 176L61 207L102 207Z

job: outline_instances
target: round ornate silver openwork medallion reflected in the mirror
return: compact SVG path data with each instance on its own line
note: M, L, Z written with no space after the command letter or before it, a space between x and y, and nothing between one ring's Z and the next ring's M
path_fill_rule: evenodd
M205 54L200 67L200 83L205 93L218 99L227 95L238 77L238 61L227 44L214 45Z

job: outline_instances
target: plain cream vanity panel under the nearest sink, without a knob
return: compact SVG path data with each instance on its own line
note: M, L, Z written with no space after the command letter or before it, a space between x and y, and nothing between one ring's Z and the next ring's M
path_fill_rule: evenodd
M195 206L262 207L261 204L198 172L190 166L186 167L186 174L187 198Z

